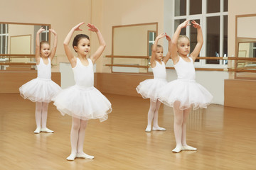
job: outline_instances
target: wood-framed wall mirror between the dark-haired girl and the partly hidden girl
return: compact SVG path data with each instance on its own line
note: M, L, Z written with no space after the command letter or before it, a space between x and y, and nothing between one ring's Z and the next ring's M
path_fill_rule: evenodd
M157 35L158 23L141 23L112 27L112 72L146 73L151 45ZM124 67L122 67L124 65ZM132 67L127 67L132 66Z

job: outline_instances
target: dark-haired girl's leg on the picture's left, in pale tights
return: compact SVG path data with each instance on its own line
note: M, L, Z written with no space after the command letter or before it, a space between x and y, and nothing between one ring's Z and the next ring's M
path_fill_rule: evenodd
M72 127L70 132L71 154L69 157L67 157L69 161L73 161L77 154L79 129L80 119L72 117Z

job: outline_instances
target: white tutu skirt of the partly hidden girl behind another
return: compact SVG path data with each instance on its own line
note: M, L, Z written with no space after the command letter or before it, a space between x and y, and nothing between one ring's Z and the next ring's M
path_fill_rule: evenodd
M166 84L166 79L146 79L139 83L136 90L143 98L151 98L155 102L159 98L159 91Z

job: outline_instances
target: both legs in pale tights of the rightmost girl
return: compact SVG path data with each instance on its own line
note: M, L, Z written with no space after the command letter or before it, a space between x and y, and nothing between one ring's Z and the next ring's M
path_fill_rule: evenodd
M180 109L180 102L174 103L174 135L176 147L173 152L181 152L181 150L196 150L186 144L186 122L191 108Z

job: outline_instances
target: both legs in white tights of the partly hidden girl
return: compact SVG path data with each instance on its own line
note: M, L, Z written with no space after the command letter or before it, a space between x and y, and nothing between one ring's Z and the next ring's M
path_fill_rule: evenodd
M146 132L151 132L151 123L153 120L153 130L165 130L164 128L159 127L158 125L158 112L161 106L161 102L159 100L152 101L150 99L150 107L148 113L148 125L146 127Z

